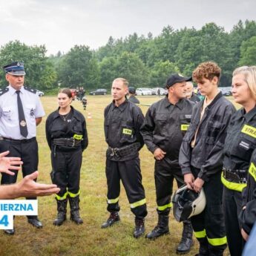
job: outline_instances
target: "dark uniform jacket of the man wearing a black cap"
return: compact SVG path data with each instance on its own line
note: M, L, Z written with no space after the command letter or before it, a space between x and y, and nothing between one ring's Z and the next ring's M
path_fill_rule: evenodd
M148 108L141 133L148 150L154 154L157 148L166 152L174 165L179 165L180 145L191 121L194 102L181 99L176 105L164 99Z

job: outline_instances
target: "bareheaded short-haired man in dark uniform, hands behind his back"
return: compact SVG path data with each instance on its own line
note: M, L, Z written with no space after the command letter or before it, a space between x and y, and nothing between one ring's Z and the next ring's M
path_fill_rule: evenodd
M108 211L110 217L102 224L102 229L119 221L120 180L135 215L134 237L144 232L144 218L147 215L145 191L142 186L139 151L144 145L140 127L144 120L142 111L137 105L129 102L128 81L123 78L114 79L111 93L113 102L105 108L104 129L108 143L106 153L106 177L108 183Z

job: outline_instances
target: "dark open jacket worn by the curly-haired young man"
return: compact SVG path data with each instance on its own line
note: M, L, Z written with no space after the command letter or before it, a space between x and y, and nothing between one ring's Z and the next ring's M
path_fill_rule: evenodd
M183 174L191 173L192 165L200 169L198 177L208 181L211 174L222 171L227 126L235 108L220 92L206 107L200 121L203 102L197 103L193 108L191 125L180 148L179 162ZM191 148L196 131L196 142L194 148Z

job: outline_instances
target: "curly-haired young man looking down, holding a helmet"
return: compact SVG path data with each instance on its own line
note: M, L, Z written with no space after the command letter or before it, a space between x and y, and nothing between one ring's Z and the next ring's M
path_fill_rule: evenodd
M180 148L180 167L188 188L206 194L206 209L191 217L199 255L223 255L226 230L222 207L223 144L235 109L217 86L221 69L214 62L203 62L193 72L194 82L205 96L194 106L191 125Z

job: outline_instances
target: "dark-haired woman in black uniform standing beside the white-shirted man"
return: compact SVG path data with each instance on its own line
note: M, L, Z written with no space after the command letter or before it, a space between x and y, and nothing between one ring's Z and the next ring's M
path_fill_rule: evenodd
M66 220L67 203L70 203L70 219L82 223L79 214L79 182L82 151L88 146L85 117L70 103L70 89L58 94L59 108L46 120L45 133L51 151L53 171L51 178L61 190L56 194L58 214L53 225L61 226Z

